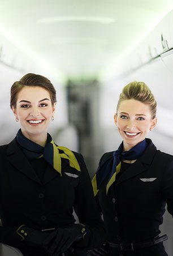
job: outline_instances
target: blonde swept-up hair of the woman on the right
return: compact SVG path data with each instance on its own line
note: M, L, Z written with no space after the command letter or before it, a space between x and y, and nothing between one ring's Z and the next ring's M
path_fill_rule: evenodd
M124 100L138 100L141 103L148 104L152 113L152 119L155 118L157 110L157 102L154 99L154 95L149 87L144 82L131 82L127 84L119 95L118 104L116 106L116 113L119 109L119 105Z

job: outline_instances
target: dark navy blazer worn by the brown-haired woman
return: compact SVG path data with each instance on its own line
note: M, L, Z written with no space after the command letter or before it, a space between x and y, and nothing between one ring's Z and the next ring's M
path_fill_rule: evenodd
M21 151L16 138L0 147L0 241L9 244L7 227L25 224L34 229L65 227L80 223L88 228L80 246L92 248L104 240L105 229L93 195L92 185L81 154L73 152L81 172L62 159L62 177L47 164L45 176L38 178ZM13 245L15 246L15 244ZM17 245L16 245L17 247Z

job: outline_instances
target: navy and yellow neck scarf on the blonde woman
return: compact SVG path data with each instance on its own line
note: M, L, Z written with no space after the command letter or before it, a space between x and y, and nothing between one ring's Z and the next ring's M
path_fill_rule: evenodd
M122 142L118 150L114 151L113 155L109 157L109 159L107 159L103 164L101 164L100 168L98 168L96 174L94 175L92 180L94 195L97 195L98 190L100 189L101 184L105 178L109 177L106 185L107 194L110 186L115 182L116 174L120 172L121 160L139 159L147 146L148 143L146 142L146 139L144 139L135 147L131 148L131 150L123 152Z

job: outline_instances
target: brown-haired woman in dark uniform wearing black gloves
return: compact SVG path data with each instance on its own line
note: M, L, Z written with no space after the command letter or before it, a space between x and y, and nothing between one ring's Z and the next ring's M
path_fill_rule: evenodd
M21 129L0 147L0 241L24 256L86 255L105 233L83 156L47 133L55 105L44 76L27 74L11 87Z

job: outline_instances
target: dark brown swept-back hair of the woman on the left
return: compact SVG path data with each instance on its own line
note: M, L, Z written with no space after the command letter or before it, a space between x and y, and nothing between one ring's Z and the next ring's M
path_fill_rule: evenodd
M51 104L54 105L54 103L57 102L56 98L56 90L53 86L53 84L50 82L49 79L47 79L45 76L42 75L36 75L33 73L28 73L27 75L24 75L19 81L16 81L14 84L12 84L11 87L11 99L10 99L10 107L14 106L16 108L16 102L18 99L18 93L27 86L40 86L44 89L46 89L50 94Z

